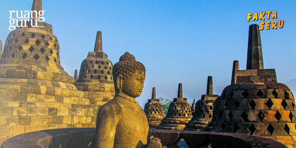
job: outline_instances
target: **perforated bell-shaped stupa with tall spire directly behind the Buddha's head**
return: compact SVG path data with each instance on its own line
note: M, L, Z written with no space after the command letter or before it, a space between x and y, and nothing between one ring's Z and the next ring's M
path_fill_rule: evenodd
M103 52L102 32L96 34L94 52L89 52L87 58L81 63L78 80L74 85L83 91L84 98L90 104L105 104L115 95L112 78L112 62Z

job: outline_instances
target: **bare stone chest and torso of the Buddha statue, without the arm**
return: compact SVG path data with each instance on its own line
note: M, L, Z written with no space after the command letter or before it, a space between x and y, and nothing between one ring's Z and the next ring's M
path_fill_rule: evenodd
M146 144L149 126L143 109L136 102L117 97L114 99L117 100L114 105L118 108L114 147L140 147Z

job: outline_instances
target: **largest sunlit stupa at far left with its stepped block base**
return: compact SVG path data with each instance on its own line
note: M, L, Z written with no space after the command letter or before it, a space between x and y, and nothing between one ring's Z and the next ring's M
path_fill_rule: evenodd
M34 0L32 10L41 11L42 1ZM34 14L32 20L36 19ZM96 126L100 106L89 105L89 99L73 85L74 78L60 65L59 42L52 25L38 22L44 27L32 26L28 23L28 27L11 31L4 43L0 144L31 131Z

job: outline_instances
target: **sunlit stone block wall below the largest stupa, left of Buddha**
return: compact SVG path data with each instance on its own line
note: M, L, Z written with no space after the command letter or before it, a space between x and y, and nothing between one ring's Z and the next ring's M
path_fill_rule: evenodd
M55 128L96 127L100 105L0 101L0 144L12 136Z

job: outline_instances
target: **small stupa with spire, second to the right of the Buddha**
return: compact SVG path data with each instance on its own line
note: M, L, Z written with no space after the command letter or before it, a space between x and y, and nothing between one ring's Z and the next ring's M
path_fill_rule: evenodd
M185 123L192 118L191 106L187 98L183 98L182 84L179 83L178 96L170 103L168 113L161 120L158 129L183 130Z

